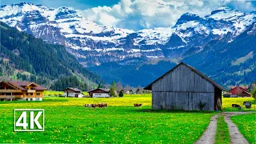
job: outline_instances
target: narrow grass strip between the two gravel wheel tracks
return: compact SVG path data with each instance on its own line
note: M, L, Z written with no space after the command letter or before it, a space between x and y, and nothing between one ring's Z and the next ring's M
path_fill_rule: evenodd
M218 117L217 132L215 136L215 144L229 144L230 143L230 133L226 122L224 121L224 116Z

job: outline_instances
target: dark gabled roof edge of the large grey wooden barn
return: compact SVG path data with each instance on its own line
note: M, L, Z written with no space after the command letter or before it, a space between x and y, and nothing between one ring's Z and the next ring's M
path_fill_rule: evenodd
M214 86L218 87L220 90L225 90L225 88L223 88L222 86L218 85L218 83L214 82L212 79L208 78L205 74L202 74L200 71L196 70L194 67L187 65L184 62L180 62L177 66L174 66L174 68L172 68L171 70L167 71L166 74L169 74L171 71L173 71L176 67L180 66L180 65L184 65L187 66L188 68L190 68L190 70L193 70L195 73L199 74L200 76L202 76L202 78L205 78L207 81L209 81L210 83L212 83ZM166 76L166 74L163 74L161 77L157 78L156 80L154 80L154 82L157 82L159 79L163 78L164 76ZM151 90L152 89L152 85L154 82L151 82L148 86L144 87L145 90Z

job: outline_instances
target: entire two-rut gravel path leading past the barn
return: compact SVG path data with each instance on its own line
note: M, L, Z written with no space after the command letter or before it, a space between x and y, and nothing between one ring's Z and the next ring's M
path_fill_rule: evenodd
M230 139L232 144L249 144L246 138L238 130L238 127L231 122L230 117L238 114L251 114L252 112L224 112L222 114L214 115L210 118L210 124L206 128L206 131L202 134L202 137L198 139L195 144L214 144L215 135L217 130L217 118L220 115L224 115L224 120L227 123L227 126L230 131Z

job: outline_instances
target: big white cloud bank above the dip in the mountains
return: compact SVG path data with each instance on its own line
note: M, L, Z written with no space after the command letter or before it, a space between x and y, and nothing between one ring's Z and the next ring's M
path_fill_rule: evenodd
M140 30L174 26L186 12L203 17L223 5L238 10L255 10L251 2L246 0L121 0L114 6L98 6L81 12L86 18L104 26Z

